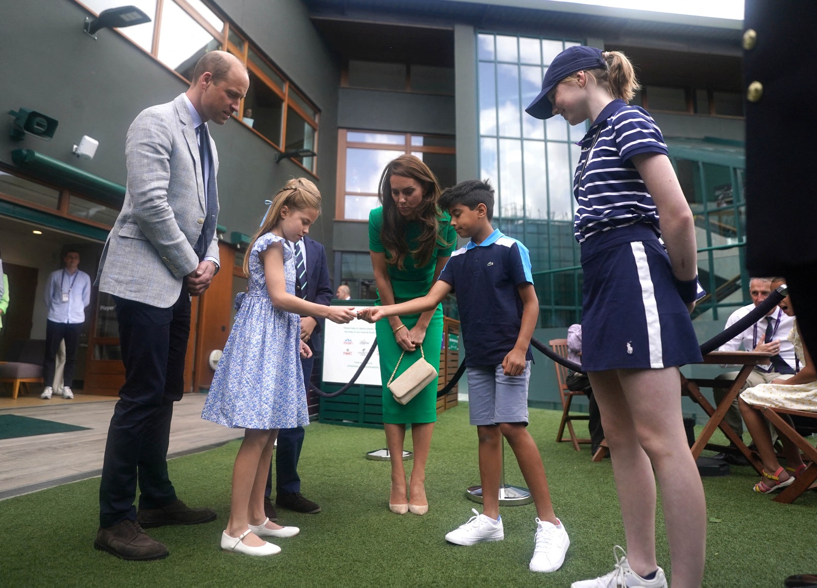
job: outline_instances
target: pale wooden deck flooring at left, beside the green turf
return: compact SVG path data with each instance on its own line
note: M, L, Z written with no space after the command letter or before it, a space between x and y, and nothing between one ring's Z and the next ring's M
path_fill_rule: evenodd
M0 414L89 427L69 433L0 439L0 500L100 474L116 399L84 394L76 397L78 402L29 397L11 408L9 403L0 405ZM243 437L243 429L228 429L202 420L205 398L206 394L185 394L185 398L176 403L168 457L201 451Z

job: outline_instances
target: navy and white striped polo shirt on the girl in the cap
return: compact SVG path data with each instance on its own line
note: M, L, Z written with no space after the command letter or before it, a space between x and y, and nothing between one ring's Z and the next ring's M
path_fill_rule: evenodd
M638 223L650 225L660 237L658 208L631 160L637 154L667 154L661 130L646 110L613 100L579 145L573 181L576 240L583 243L593 234Z

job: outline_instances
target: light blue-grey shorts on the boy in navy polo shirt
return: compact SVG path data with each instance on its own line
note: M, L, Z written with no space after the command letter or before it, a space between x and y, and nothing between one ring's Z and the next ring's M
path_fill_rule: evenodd
M530 360L520 376L506 376L502 364L468 368L468 415L471 425L502 422L528 424Z

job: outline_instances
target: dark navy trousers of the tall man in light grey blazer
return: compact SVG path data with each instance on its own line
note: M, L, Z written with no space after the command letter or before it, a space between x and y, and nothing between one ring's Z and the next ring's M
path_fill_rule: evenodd
M167 443L173 403L181 399L190 335L190 296L182 287L176 303L162 309L114 296L125 385L110 420L100 482L100 527L136 520L139 507L176 501L167 476Z

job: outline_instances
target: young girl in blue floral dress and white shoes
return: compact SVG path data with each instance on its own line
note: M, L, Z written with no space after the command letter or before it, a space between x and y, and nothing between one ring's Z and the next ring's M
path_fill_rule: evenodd
M247 555L280 552L263 537L292 537L296 527L281 527L264 515L264 488L279 429L309 425L299 354L301 316L348 323L351 308L324 306L295 296L292 243L309 232L320 214L320 193L305 178L292 179L275 194L261 228L244 258L249 275L239 311L202 418L243 428L244 439L233 467L230 520L221 533L221 549Z

